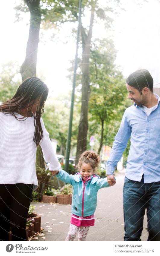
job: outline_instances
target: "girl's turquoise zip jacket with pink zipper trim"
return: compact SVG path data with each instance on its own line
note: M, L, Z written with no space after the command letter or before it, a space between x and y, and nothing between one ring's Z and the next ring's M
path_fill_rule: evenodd
M55 176L73 186L72 213L77 216L83 217L94 214L97 206L98 190L110 187L107 178L100 179L97 174L93 174L86 180L85 184L82 181L80 172L71 175L60 169Z

